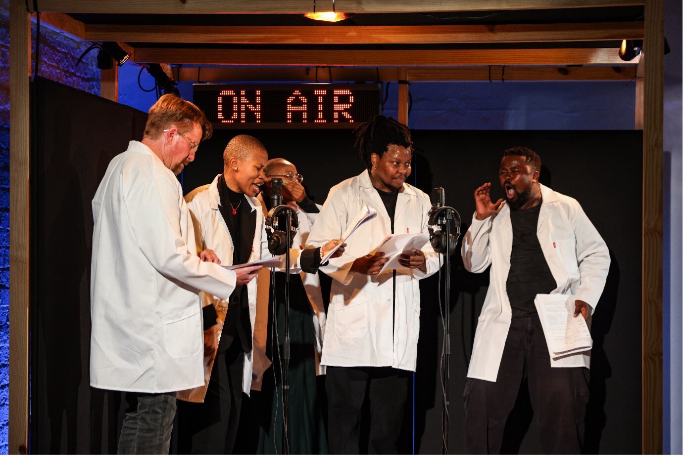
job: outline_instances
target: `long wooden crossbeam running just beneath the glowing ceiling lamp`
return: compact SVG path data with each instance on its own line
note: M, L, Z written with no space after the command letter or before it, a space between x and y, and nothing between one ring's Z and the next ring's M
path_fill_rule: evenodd
M644 25L629 23L521 25L383 25L370 27L234 27L86 25L89 41L258 44L431 44L642 40Z

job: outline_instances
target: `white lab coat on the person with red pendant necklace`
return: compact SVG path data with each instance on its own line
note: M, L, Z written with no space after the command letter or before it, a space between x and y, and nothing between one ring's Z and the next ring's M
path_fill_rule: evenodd
M188 208L193 216L195 222L195 233L197 235L197 250L211 249L222 265L233 264L233 240L228 231L219 205L221 200L219 198L219 176L217 174L209 185L204 185L193 190L186 196ZM259 200L255 197L245 196L247 203L249 203L251 211L256 211L261 208ZM255 234L252 240L252 254L248 262L256 261L271 257L269 252L268 239L266 238L266 219L262 211L257 212L257 220L255 224ZM290 250L290 264L291 271L299 272L299 250ZM212 304L216 309L227 309L227 300L229 297L221 298L211 291L203 291L202 303L204 306ZM252 329L252 336L254 336L255 316L257 309L257 278L253 278L247 283L247 302L250 312L250 327ZM242 371L242 390L249 395L250 384L252 382L252 362L253 351L245 354L245 363Z

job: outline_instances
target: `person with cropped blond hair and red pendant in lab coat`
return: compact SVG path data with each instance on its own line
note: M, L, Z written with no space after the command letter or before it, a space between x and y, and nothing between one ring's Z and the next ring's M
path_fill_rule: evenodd
M266 148L256 138L237 135L223 153L224 170L209 185L186 196L192 213L197 250L211 249L225 265L239 265L271 257L266 222L256 195L264 183ZM327 244L330 249L334 246ZM314 252L309 250L308 252ZM318 250L317 250L318 252ZM306 255L290 251L293 272L307 270ZM314 265L314 271L318 262ZM202 389L180 393L179 452L230 454L233 450L242 393L252 381L253 328L257 281L236 287L229 297L207 289L202 294L206 319L205 347L216 353L211 376ZM214 311L214 313L211 313ZM214 325L210 325L214 324ZM196 395L199 393L199 397Z

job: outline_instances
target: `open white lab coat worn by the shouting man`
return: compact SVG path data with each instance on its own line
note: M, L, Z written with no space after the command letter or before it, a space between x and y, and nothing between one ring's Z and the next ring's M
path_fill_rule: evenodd
M538 218L538 240L557 287L551 293L575 295L594 313L609 272L609 250L577 200L540 185L543 202ZM510 209L477 220L462 241L462 259L469 272L490 268L490 286L473 340L468 378L497 381L512 309L507 296L512 252ZM589 323L589 316L588 316ZM552 367L590 367L590 351L550 359Z

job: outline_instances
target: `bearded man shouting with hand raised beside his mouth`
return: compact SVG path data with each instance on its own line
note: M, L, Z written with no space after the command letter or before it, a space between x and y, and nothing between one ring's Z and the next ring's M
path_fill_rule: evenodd
M581 452L590 351L551 358L534 299L538 293L573 295L569 312L589 324L606 282L609 251L577 200L538 182L540 167L534 151L508 149L499 170L506 202L490 200L490 183L474 192L464 267L474 273L491 268L464 389L468 454L500 452L523 380L543 452Z

